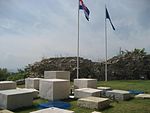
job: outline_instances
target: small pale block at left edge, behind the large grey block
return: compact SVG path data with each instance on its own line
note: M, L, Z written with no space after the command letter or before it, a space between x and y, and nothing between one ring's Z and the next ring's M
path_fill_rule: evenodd
M0 81L0 90L16 89L16 82Z

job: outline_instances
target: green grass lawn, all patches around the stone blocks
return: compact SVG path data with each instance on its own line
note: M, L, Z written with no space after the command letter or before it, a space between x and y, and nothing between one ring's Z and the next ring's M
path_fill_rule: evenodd
M113 89L123 90L141 90L150 94L150 81L136 80L136 81L108 81L98 82L97 86L110 86ZM70 110L75 113L91 113L94 110L79 108L76 100L65 100L71 104ZM38 110L36 105L38 103L46 102L46 100L34 100L33 106L30 108L23 108L15 113L29 113ZM110 108L101 111L102 113L150 113L150 99L131 99L129 101L112 102Z

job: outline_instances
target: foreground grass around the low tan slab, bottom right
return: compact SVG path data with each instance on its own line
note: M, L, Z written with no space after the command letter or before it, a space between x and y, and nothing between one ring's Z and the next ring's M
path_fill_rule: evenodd
M71 102L71 110L75 113L91 113L94 110L77 107L77 101ZM130 101L119 101L111 103L111 107L101 110L102 113L150 113L150 100L133 99Z

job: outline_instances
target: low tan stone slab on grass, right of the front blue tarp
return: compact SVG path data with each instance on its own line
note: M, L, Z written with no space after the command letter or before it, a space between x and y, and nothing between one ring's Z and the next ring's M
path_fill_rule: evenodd
M108 98L86 97L78 99L77 104L79 107L100 110L109 107L110 101Z

